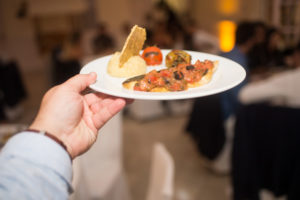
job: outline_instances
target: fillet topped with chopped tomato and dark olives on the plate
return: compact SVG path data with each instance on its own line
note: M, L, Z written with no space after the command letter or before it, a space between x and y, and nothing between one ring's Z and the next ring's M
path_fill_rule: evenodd
M123 86L130 90L143 92L174 92L199 87L208 83L217 62L197 60L195 64L179 64L162 70L152 70L145 75L130 78Z

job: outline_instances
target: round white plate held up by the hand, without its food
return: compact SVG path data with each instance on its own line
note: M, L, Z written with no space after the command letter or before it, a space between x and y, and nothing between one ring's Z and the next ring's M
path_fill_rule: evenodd
M160 66L148 67L147 71L164 68L164 60L167 53L171 50L162 50L163 63ZM223 92L230 88L237 86L245 77L246 72L244 68L232 60L194 51L186 51L192 56L192 63L196 60L204 61L205 59L212 61L219 61L218 68L213 75L212 80L203 86L191 88L186 91L180 92L140 92L131 91L123 88L122 82L127 78L114 78L106 72L107 64L110 56L98 58L86 64L80 71L81 74L88 74L90 72L97 73L96 83L90 85L95 91L102 92L117 97L131 98L131 99L144 99L144 100L175 100L175 99L189 99L196 97L203 97L207 95Z

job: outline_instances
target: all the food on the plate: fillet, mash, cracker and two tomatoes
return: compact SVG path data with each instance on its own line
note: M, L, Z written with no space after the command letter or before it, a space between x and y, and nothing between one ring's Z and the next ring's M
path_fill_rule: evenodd
M145 29L135 25L122 52L116 52L108 62L109 75L129 78L122 83L124 88L142 92L176 92L199 87L212 79L216 61L197 60L192 64L192 56L178 49L171 50L164 59L157 46L146 47L140 55L145 40ZM146 73L148 66L161 68L163 60L163 69Z

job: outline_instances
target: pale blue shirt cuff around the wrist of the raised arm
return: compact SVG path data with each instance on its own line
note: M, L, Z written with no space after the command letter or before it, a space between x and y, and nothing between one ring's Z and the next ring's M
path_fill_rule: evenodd
M54 170L71 185L72 161L69 154L50 138L33 132L13 136L1 150L3 156L16 156Z

